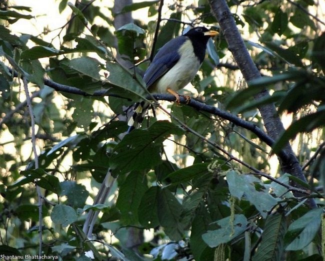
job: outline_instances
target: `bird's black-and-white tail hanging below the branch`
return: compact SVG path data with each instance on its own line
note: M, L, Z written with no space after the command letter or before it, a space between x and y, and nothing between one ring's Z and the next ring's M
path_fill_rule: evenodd
M131 106L127 112L127 132L131 132L133 129L137 129L141 126L143 118L149 109L150 103L148 101L141 101Z

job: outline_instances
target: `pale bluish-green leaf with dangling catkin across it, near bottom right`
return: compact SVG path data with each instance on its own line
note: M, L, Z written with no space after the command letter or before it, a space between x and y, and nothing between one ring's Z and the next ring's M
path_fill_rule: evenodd
M233 220L233 227L230 224L230 216L222 218L216 223L221 227L215 230L208 230L202 234L205 243L210 247L216 247L219 244L227 243L246 230L247 219L244 215L236 214ZM233 235L231 232L234 231Z

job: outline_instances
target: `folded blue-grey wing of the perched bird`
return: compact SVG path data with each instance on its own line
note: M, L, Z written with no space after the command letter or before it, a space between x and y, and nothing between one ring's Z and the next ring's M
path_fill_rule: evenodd
M143 80L149 88L155 81L168 72L179 60L177 52L187 37L179 36L167 42L154 56L152 63L146 69Z

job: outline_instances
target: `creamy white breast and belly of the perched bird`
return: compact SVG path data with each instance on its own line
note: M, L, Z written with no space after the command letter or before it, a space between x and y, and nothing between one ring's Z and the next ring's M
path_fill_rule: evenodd
M152 92L165 93L167 88L177 92L194 78L201 64L189 39L179 48L178 54L178 62L155 83Z

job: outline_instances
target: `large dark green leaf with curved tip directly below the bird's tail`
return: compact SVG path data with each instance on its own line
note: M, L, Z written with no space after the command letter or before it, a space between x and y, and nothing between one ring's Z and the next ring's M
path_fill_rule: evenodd
M115 147L109 165L115 175L153 168L161 162L162 142L171 134L182 133L179 127L168 121L157 121L145 130L135 129Z

